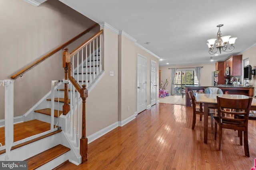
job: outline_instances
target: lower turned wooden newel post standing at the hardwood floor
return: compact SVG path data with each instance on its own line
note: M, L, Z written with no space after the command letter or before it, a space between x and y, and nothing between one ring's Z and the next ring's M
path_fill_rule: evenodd
M88 139L86 137L86 98L88 97L88 90L86 85L82 85L80 96L82 98L82 137L80 139L80 154L82 156L82 163L87 161L88 158Z

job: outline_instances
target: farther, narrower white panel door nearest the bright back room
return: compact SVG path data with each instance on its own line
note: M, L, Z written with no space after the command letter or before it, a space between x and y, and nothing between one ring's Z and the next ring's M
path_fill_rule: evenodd
M156 104L156 62L151 60L151 76L150 76L150 81L151 81L151 93L150 93L150 104L153 106Z

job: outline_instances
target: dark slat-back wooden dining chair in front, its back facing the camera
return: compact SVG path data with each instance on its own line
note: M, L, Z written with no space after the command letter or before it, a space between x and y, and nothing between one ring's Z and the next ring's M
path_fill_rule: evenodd
M214 140L217 138L217 125L219 125L219 150L222 143L222 129L237 130L240 137L240 145L242 145L242 132L244 132L244 153L250 157L248 147L248 118L252 104L252 98L247 99L227 99L217 96L218 117L214 116ZM230 114L229 117L224 115Z

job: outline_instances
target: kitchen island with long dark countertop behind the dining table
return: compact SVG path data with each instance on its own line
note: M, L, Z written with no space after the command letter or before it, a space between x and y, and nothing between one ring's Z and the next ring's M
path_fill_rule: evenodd
M191 102L190 98L188 96L188 91L192 90L194 93L204 93L204 89L208 87L213 87L213 86L186 86L186 106L191 107ZM228 94L243 94L246 96L253 97L253 89L254 87L252 86L214 86L218 87L222 90L223 94L228 93Z

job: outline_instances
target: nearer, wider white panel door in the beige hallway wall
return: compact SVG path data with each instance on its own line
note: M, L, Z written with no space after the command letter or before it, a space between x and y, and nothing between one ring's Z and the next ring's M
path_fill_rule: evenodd
M147 59L137 56L137 113L146 109L146 67Z

